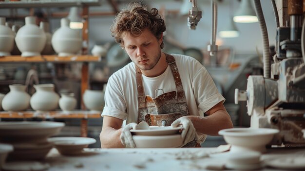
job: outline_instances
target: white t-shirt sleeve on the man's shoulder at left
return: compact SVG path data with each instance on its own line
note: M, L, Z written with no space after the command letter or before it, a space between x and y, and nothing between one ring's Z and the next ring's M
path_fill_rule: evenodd
M108 80L105 91L105 106L102 116L112 116L125 120L127 116L126 103L124 101L123 87L115 76Z

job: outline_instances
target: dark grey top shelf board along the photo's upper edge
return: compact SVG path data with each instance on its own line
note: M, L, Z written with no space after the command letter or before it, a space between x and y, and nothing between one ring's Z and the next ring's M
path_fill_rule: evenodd
M100 6L101 0L19 0L0 2L0 8Z

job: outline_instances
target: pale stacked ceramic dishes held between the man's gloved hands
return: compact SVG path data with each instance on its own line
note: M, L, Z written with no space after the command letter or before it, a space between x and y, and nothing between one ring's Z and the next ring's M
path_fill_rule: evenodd
M182 145L183 127L150 126L148 130L131 130L136 148L175 148Z

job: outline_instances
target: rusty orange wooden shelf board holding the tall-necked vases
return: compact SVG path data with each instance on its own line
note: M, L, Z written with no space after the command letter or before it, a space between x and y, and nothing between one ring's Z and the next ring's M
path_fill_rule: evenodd
M42 55L36 57L4 56L0 62L94 62L101 61L100 57L91 55L58 57L57 55Z

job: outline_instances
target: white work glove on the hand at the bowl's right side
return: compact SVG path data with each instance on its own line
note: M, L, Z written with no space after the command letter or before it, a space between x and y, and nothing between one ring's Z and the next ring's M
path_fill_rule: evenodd
M181 133L181 137L183 139L183 145L186 145L187 143L191 142L192 140L194 140L195 136L196 136L196 130L195 127L193 125L193 123L191 122L191 120L186 117L186 116L182 116L178 119L176 119L175 121L172 122L172 127L178 127L182 125L183 126L183 130Z

